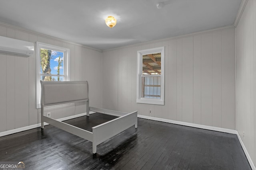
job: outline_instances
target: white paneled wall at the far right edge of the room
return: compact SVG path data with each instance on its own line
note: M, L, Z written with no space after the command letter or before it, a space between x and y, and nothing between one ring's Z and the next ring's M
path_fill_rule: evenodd
M256 0L248 0L236 27L237 130L256 165Z

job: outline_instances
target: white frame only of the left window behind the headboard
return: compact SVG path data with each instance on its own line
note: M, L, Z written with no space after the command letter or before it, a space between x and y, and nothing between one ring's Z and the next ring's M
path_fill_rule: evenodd
M52 51L59 51L63 53L63 81L70 81L70 49L64 47L58 47L56 45L50 45L46 43L36 42L36 108L41 108L41 72L40 72L40 49L49 49ZM52 74L53 76L57 76Z

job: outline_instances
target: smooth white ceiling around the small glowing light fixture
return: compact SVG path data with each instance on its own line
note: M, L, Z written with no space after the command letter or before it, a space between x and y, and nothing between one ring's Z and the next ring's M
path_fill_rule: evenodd
M242 0L161 1L1 0L0 21L104 50L232 25Z

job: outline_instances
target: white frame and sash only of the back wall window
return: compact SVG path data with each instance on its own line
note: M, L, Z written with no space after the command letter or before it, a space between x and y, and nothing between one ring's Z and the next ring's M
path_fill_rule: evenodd
M142 98L142 56L161 53L161 96L160 99ZM156 76L156 75L154 75ZM137 103L164 105L164 47L137 51Z

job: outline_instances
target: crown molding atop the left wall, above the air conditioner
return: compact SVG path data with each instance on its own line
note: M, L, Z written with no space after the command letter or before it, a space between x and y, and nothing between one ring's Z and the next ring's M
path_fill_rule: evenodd
M31 33L31 34L47 37L47 38L50 38L50 39L54 39L56 41L62 41L62 42L65 42L65 43L69 43L69 44L73 44L73 45L78 45L80 47L84 47L86 49L91 49L91 50L95 50L95 51L98 51L98 52L102 53L102 50L100 50L100 49L95 49L95 48L88 47L86 45L82 45L82 44L79 44L79 43L74 43L74 42L71 42L71 41L66 41L64 39L60 39L60 38L57 38L57 37L53 37L53 36L46 35L46 34L43 34L43 33L39 33L39 32L36 32L36 31L32 31L32 30L29 30L29 29L25 29L25 28L18 27L18 26L15 26L15 25L11 25L11 24L8 24L8 23L4 23L4 22L1 22L1 21L0 21L0 25L4 26L4 27L16 29L16 30L19 30L19 31L24 31L26 33Z

